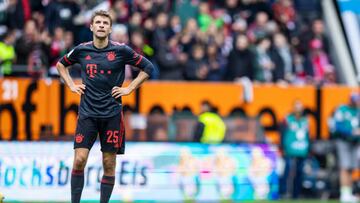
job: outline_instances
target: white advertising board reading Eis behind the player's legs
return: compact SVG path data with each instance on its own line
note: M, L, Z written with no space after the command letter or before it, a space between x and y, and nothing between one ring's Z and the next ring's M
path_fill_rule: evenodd
M112 200L277 199L277 150L269 145L127 143L117 157ZM0 193L9 201L69 201L71 142L0 142ZM99 143L82 199L98 200Z

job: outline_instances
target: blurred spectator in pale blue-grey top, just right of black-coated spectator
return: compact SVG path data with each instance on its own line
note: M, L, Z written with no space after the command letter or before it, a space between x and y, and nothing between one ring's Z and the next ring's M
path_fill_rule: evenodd
M260 38L255 46L255 75L256 82L271 83L274 81L275 65L271 60L269 49L271 41L269 38Z

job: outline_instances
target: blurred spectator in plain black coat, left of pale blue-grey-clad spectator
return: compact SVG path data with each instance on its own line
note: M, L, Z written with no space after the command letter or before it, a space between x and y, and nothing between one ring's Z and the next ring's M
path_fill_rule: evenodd
M249 40L246 35L236 37L234 48L228 57L225 79L239 80L242 77L253 79L255 56L249 49Z

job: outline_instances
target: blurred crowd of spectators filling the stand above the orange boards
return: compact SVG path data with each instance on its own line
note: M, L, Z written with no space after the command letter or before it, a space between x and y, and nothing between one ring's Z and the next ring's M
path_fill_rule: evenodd
M113 15L112 40L156 65L152 79L336 82L317 0L0 1L2 75L57 77L58 59L92 40L98 9Z

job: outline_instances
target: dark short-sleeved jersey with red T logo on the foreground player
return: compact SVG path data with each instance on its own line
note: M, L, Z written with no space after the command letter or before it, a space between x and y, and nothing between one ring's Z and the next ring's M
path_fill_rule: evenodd
M111 95L114 86L121 86L125 78L125 65L136 66L149 75L153 65L130 47L109 41L107 47L97 49L93 42L78 45L60 60L65 67L81 65L81 78L86 85L80 101L79 114L107 118L121 111L121 98Z

